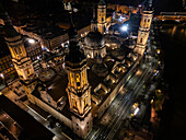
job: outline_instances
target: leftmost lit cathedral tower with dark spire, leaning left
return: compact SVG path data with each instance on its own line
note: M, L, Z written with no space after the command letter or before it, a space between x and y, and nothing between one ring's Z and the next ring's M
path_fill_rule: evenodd
M27 57L23 38L13 27L8 14L4 18L4 30L7 32L5 42L12 56L12 62L25 89L27 96L33 92L36 85L35 71L30 57Z

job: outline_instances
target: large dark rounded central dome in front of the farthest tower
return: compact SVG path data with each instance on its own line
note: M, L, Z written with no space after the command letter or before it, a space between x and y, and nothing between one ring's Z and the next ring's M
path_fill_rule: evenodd
M85 38L84 43L86 46L98 47L105 44L104 36L100 32L90 32Z

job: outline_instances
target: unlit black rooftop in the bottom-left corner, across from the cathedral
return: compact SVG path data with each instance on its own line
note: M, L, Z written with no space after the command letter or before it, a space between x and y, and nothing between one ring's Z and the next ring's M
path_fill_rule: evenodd
M16 124L22 128L20 135L18 136L18 139L51 140L55 137L55 135L51 133L47 128L42 126L32 116L30 116L26 112L21 109L18 105L15 105L4 95L0 95L0 103L1 110L9 115L11 119L16 121ZM0 117L0 119L3 119L3 117ZM9 128L9 130L12 131L11 128Z

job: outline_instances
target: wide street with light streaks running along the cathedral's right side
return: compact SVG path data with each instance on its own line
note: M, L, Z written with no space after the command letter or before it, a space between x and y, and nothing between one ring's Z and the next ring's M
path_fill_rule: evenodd
M109 108L101 118L96 126L86 139L91 140L112 140L116 131L121 125L121 121L128 117L130 107L139 95L143 81L149 79L153 69L147 63L142 63L137 72L131 77L118 96L113 101ZM126 92L127 91L127 92Z

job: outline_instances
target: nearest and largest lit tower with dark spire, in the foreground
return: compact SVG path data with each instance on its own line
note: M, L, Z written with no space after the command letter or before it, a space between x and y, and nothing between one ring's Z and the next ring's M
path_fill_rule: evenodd
M71 14L72 16L72 14ZM72 18L69 28L69 54L66 56L68 72L68 93L72 116L73 131L84 138L92 129L91 86L88 81L86 59L78 44L78 34Z

